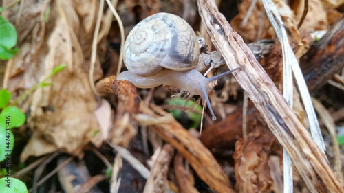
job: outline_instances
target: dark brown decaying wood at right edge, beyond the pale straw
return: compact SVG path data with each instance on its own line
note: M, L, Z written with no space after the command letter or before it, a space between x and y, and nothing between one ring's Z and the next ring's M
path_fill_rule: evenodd
M338 19L321 40L300 58L310 91L319 89L344 67L344 17Z

